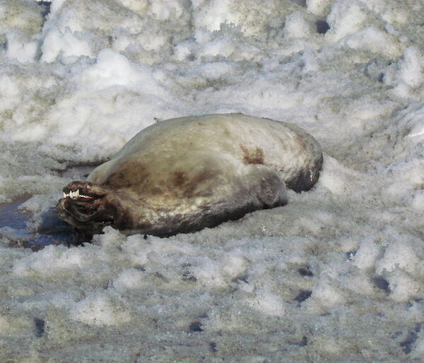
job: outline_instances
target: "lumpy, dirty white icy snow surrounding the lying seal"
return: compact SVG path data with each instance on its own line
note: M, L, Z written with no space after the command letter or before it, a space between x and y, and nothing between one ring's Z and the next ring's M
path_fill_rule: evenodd
M423 24L422 0L1 0L1 362L421 362ZM194 234L63 243L61 187L216 112L312 133L318 184Z

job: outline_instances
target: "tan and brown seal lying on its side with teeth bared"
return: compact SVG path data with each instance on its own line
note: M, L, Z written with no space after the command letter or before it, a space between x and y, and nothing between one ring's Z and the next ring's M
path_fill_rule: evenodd
M322 167L319 143L293 124L244 114L160 121L132 138L86 181L71 182L59 217L85 239L106 225L167 237L287 203Z

